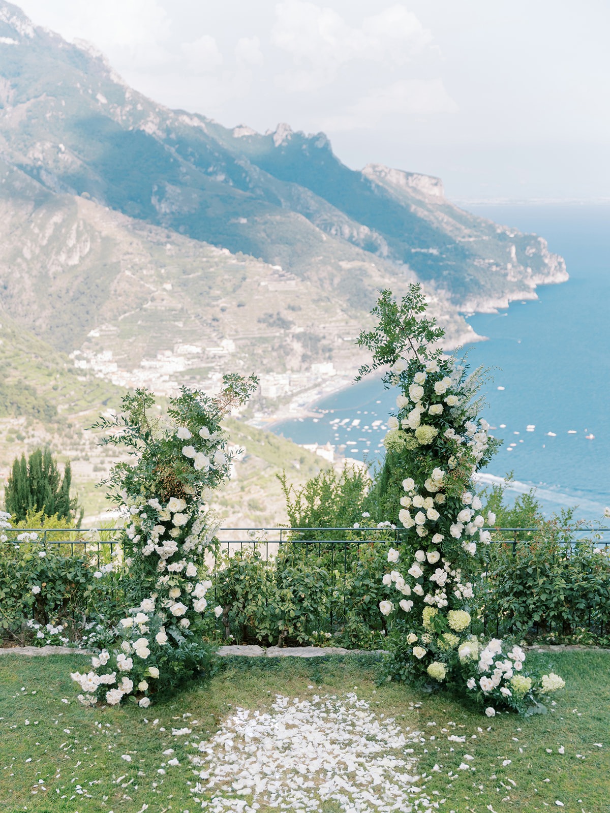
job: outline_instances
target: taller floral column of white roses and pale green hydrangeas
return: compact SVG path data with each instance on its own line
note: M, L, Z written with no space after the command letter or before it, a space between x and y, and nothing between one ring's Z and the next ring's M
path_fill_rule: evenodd
M477 417L481 370L469 374L464 363L443 356L444 332L425 308L419 285L402 302L382 291L372 311L377 327L359 337L373 364L361 367L357 380L385 368L385 385L400 391L384 441L386 506L404 528L384 576L396 599L379 607L390 622L388 676L452 689L488 716L502 707L543 711L539 699L563 680L528 672L520 647L473 635L482 553L491 538L485 526L495 523L481 513L473 475L499 441Z

